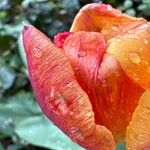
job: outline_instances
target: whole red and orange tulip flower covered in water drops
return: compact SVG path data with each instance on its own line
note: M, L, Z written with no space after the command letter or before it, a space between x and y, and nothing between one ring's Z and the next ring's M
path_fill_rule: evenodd
M23 43L43 113L74 142L150 149L149 22L88 4L54 44L33 26L24 27Z

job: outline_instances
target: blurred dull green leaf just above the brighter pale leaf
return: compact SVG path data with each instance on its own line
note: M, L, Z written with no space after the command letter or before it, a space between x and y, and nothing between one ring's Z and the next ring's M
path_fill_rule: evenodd
M21 121L31 115L39 115L41 111L31 93L20 92L8 99L7 103L0 103L0 116Z

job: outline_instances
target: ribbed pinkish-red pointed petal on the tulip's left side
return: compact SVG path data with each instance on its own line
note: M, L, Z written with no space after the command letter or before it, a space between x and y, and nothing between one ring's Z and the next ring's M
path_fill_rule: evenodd
M30 81L44 114L86 149L114 150L111 132L95 124L88 96L62 50L32 26L24 28L23 41Z

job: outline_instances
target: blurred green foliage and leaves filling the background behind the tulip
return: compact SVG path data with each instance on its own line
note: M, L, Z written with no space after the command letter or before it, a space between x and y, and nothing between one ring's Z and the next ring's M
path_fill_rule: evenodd
M28 80L21 30L30 23L52 38L68 31L78 10L92 2L99 0L0 0L0 150L82 149L38 108ZM103 2L129 15L150 18L149 0Z

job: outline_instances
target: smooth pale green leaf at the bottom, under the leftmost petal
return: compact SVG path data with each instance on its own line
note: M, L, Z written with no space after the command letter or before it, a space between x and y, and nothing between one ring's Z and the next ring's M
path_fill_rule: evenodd
M25 119L15 131L33 145L57 150L83 150L42 115Z

